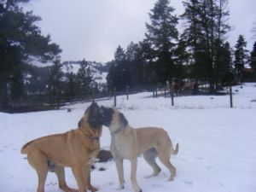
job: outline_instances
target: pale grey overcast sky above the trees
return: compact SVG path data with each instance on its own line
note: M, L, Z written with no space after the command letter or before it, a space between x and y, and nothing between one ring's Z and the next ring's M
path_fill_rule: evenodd
M107 62L113 60L118 45L126 48L133 41L143 40L148 13L156 0L32 0L27 9L42 18L38 26L59 44L62 61ZM175 14L183 13L181 0L171 0ZM239 34L245 35L247 49L253 48L253 21L256 0L230 0L228 40L236 44Z

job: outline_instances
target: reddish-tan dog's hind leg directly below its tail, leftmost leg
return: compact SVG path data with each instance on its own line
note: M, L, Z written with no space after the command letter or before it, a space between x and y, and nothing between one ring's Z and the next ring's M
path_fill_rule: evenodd
M37 148L27 153L27 161L38 173L38 192L44 192L44 184L48 173L46 156Z

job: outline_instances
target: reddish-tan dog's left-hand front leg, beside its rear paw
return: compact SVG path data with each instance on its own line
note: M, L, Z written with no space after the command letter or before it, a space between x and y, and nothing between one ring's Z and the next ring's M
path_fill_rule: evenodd
M72 167L73 176L75 177L78 185L79 192L87 192L86 180L84 170L82 167Z

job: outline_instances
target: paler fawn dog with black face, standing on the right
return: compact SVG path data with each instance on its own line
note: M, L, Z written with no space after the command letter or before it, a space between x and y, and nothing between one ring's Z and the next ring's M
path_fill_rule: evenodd
M154 170L149 177L157 176L160 173L160 167L156 164L155 158L158 156L160 161L169 169L173 180L176 175L176 168L170 162L171 154L177 154L176 149L172 147L170 137L166 131L156 127L144 127L133 129L123 113L113 109L101 107L103 116L103 125L108 126L111 133L111 153L119 173L119 189L124 188L124 167L123 160L131 160L131 183L135 192L141 192L142 189L137 184L137 155L143 154L144 159Z

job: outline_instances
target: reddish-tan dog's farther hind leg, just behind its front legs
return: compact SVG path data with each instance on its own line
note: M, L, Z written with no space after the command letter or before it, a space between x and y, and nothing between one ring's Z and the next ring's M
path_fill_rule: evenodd
M60 189L66 192L79 192L79 189L71 189L67 186L66 179L65 179L65 170L64 166L55 166L54 172L58 177L59 187Z

